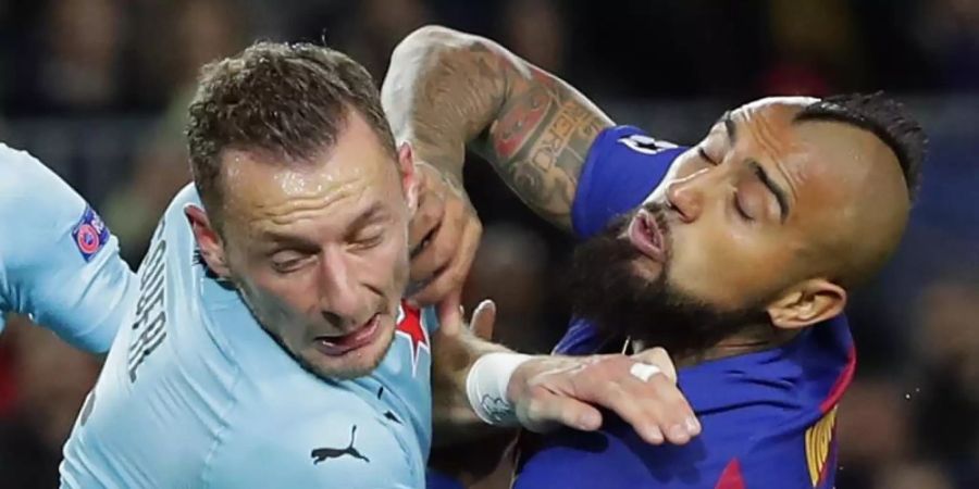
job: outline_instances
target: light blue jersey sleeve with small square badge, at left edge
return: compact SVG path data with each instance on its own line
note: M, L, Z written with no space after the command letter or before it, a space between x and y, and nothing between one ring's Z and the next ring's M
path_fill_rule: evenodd
M98 214L30 154L0 143L0 329L32 316L73 346L104 352L138 292Z

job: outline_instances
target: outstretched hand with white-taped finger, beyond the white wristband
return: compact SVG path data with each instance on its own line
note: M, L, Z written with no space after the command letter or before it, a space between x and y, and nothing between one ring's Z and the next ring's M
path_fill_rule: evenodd
M635 365L659 372L645 381ZM637 367L640 374L648 367ZM666 350L633 356L541 356L524 362L510 377L507 397L520 423L532 431L556 424L592 431L602 426L606 408L632 425L646 442L683 444L701 432L690 404L677 387L677 371Z

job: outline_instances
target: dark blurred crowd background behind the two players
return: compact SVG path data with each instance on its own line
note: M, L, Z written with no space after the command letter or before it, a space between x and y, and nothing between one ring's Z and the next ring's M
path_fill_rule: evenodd
M78 189L137 266L189 180L184 110L203 63L255 39L309 40L380 83L396 42L433 22L681 143L765 95L905 101L931 150L900 252L850 309L859 366L838 487L979 488L979 0L0 0L0 140ZM497 301L497 340L547 351L572 242L474 158L466 179L485 225L467 301ZM14 323L0 338L0 487L50 488L99 363Z

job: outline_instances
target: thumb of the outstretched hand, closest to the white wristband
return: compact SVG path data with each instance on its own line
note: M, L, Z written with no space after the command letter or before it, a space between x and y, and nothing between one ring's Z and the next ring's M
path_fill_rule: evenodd
M522 424L531 431L548 431L557 425L565 425L582 431L593 431L602 426L602 413L595 408L579 400L557 396L547 389L534 390Z

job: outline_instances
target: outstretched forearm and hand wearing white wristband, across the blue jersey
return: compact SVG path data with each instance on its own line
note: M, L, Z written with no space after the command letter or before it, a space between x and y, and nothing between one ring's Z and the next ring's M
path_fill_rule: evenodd
M486 329L494 315L485 303L478 308L474 329ZM518 355L470 333L453 305L439 304L438 316L441 326L432 337L432 394L439 443L472 438L486 424L594 430L602 426L602 408L650 443L685 443L699 432L661 349L633 356Z

